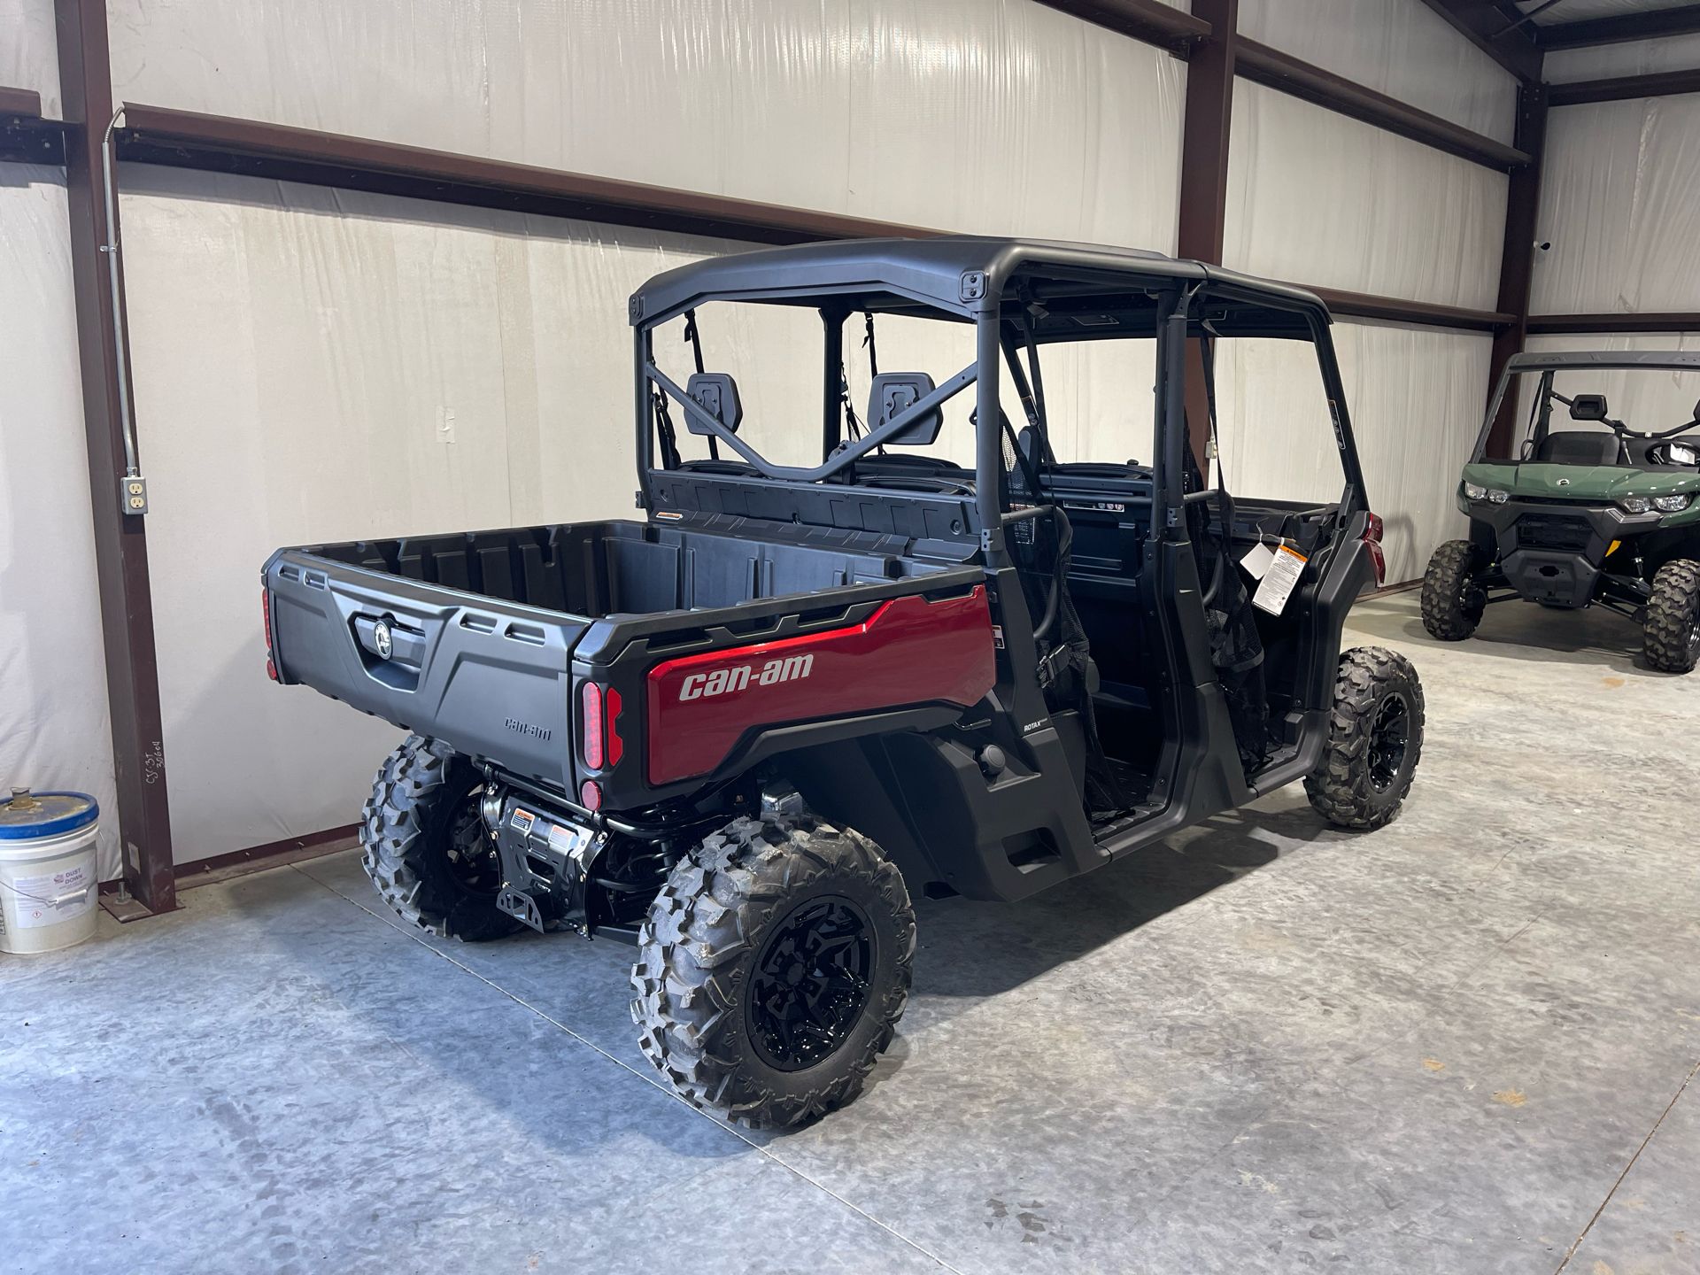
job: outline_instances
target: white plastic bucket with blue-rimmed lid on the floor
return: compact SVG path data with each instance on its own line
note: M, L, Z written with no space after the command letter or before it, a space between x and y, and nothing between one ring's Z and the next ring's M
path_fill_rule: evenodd
M0 801L0 952L56 952L94 938L100 808L85 792L12 789Z

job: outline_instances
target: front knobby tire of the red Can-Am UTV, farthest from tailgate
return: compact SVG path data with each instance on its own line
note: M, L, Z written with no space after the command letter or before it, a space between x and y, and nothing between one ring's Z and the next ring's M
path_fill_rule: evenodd
M1316 813L1336 828L1389 823L1423 755L1423 683L1411 661L1380 646L1340 656L1321 765L1304 780Z

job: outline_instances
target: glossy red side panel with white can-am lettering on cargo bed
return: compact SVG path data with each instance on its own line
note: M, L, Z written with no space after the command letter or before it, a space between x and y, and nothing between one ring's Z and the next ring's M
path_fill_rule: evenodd
M666 660L649 670L651 784L704 775L755 726L945 700L969 707L996 665L986 586L908 595L860 624Z

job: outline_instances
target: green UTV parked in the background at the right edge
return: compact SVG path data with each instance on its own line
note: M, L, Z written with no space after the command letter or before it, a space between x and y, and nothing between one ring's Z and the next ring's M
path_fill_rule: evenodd
M1423 627L1462 641L1493 602L1598 602L1642 626L1652 668L1690 672L1700 660L1700 406L1686 406L1697 386L1700 354L1515 355L1459 484L1470 536L1442 544L1423 576ZM1613 418L1606 391L1654 428ZM1508 394L1520 423L1496 437Z

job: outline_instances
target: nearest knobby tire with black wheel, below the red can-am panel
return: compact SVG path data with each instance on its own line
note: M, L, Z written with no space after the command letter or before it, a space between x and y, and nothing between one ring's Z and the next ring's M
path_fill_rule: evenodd
M898 867L853 831L767 811L673 869L639 937L632 1022L694 1105L797 1125L862 1091L913 957Z

